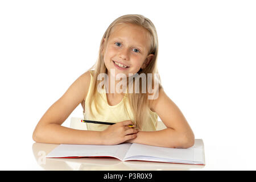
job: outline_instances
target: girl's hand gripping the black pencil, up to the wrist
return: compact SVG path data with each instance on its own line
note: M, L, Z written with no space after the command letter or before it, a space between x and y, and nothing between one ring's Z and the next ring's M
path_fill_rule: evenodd
M136 138L139 130L128 125L133 125L133 122L131 120L118 122L114 125L110 125L106 130L101 131L103 144L119 144L125 142L126 140Z

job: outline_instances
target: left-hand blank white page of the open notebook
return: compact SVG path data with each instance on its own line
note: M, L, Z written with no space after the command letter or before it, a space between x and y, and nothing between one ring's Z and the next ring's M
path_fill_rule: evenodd
M122 143L112 146L60 144L49 152L46 158L63 158L69 156L112 156L119 160L123 160L130 146L130 143Z

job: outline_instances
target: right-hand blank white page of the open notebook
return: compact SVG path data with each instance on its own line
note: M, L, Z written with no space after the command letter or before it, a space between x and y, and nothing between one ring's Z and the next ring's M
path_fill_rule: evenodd
M203 160L203 140L196 139L190 148L167 148L133 143L125 156L125 160L151 160L159 162L199 162Z

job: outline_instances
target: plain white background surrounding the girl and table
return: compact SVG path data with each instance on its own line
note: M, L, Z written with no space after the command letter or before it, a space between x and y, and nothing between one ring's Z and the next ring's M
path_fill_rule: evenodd
M39 119L96 62L109 24L155 24L167 95L204 140L203 169L256 169L255 1L0 1L0 169L40 169ZM82 117L79 105L70 117Z

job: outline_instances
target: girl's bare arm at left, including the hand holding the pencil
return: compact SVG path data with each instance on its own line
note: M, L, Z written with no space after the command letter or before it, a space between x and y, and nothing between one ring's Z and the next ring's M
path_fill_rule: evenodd
M38 122L32 138L40 143L67 144L119 144L137 137L136 130L127 125L131 121L123 121L112 125L105 131L75 130L61 126L72 111L86 98L90 85L90 73L81 75L67 92L57 100ZM114 131L114 132L112 132Z

